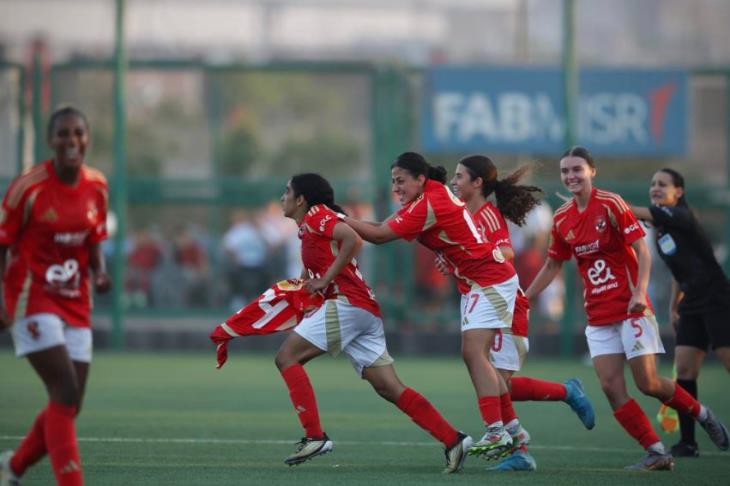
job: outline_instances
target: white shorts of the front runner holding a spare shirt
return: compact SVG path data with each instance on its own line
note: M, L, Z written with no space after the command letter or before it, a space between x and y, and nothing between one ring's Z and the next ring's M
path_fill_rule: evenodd
M393 363L385 345L383 320L347 302L326 300L294 332L332 356L345 353L360 376L363 368Z

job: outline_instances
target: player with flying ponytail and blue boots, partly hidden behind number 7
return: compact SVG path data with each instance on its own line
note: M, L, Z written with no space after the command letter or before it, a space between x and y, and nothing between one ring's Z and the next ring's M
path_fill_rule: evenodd
M497 245L508 260L514 258L512 241L505 216L513 223L522 226L527 213L540 204L534 193L540 192L535 186L518 185L519 180L529 170L523 166L504 179L498 179L497 167L489 157L472 155L459 161L451 185L454 193L465 203L474 216L477 229L485 240ZM487 198L494 194L496 206ZM578 414L586 428L595 424L593 406L583 392L577 379L565 383L539 380L529 377L513 377L524 363L530 344L527 338L529 301L521 289L517 290L512 328L497 334L490 358L492 364L502 375L510 388L510 396L500 397L503 401L540 400L565 401ZM503 410L504 415L504 410ZM525 470L534 469L534 460L527 454L529 434L522 429L517 420L505 423L512 436L514 445L520 447L507 456L493 469Z

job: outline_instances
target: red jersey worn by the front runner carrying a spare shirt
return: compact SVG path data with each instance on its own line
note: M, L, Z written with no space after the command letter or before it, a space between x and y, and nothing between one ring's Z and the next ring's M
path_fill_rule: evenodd
M312 206L304 216L299 226L299 238L302 240L302 263L310 277L322 277L337 258L340 244L332 235L339 222L337 213L324 204ZM354 258L335 277L325 295L328 299L344 299L355 307L381 317L380 306L362 278Z

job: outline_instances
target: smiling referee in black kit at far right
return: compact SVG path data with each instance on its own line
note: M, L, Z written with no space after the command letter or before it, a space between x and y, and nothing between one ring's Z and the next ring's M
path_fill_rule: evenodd
M649 197L652 206L631 209L656 228L657 251L674 277L669 315L677 333L677 383L697 398L697 377L708 345L730 370L730 285L687 204L684 177L673 169L658 171L652 177ZM672 454L699 456L694 418L680 414L679 427L682 437L672 446Z

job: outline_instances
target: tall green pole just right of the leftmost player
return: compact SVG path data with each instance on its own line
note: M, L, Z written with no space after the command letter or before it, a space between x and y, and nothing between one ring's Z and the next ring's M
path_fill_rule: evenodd
M114 179L112 208L117 219L114 234L112 266L112 346L124 346L124 237L127 210L126 144L127 115L125 110L125 79L127 57L124 49L125 0L115 0L114 38Z

